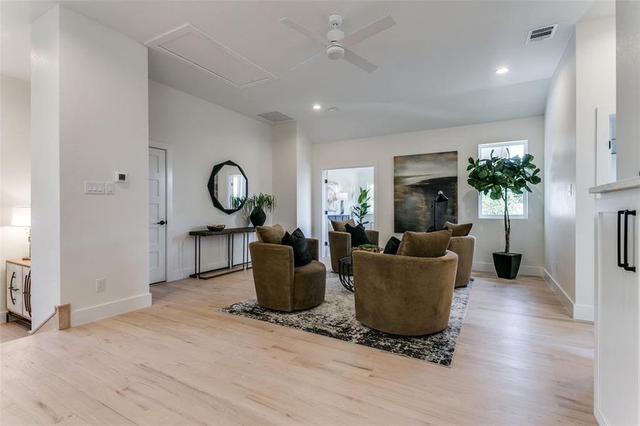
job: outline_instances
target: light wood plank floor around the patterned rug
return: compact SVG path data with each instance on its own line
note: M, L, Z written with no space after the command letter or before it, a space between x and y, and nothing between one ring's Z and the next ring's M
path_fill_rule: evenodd
M0 345L2 425L595 425L592 325L538 278L479 278L452 368L216 310L251 272Z

